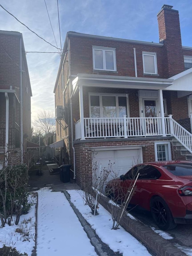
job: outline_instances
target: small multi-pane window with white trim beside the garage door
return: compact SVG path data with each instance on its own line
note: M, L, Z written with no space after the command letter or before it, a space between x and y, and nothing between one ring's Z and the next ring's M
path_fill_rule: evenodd
M155 142L155 161L171 160L170 142Z

